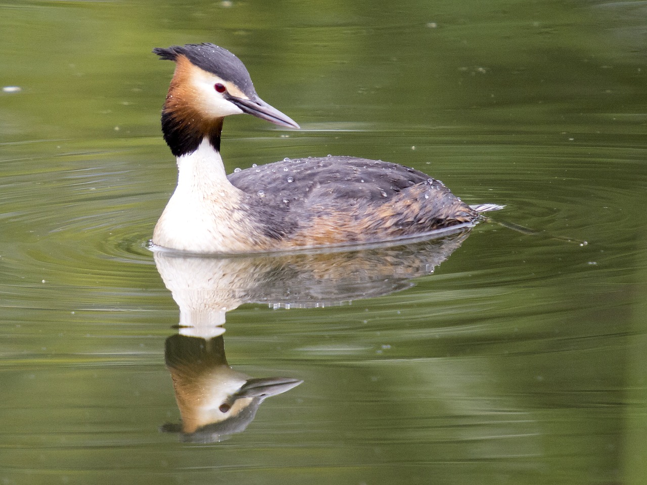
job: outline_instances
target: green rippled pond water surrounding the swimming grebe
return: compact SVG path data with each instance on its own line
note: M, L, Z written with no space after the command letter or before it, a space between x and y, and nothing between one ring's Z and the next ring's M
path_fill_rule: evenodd
M644 483L646 19L641 1L0 5L0 85L20 88L0 92L0 483ZM228 118L228 171L381 158L507 207L428 243L168 255L184 270L160 275L173 66L150 50L201 41L302 126ZM178 336L192 304L226 318L210 359L303 380L239 433L160 431L181 420L173 365L206 361Z

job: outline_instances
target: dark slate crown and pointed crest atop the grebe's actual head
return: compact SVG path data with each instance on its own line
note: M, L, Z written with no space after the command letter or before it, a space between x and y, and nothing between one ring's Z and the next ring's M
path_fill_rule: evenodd
M250 98L256 94L245 64L226 48L212 43L186 44L172 45L169 48L155 47L153 53L167 61L177 61L177 56L186 56L200 69L234 83Z

